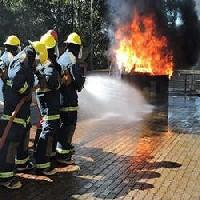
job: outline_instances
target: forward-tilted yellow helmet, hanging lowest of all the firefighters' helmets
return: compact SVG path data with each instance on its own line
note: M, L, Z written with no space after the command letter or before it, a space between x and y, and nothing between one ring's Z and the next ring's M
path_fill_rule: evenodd
M48 51L46 46L40 41L35 41L35 42L29 41L29 43L32 45L36 53L39 55L40 63L44 64L48 60Z

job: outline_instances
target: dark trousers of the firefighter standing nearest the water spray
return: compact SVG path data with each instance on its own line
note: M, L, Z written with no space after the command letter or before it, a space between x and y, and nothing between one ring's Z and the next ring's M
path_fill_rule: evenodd
M77 122L77 107L68 107L72 108L66 111L62 111L60 114L61 127L58 132L58 141L57 141L57 157L58 159L71 159L72 157L72 138L76 130ZM73 109L74 108L74 109Z

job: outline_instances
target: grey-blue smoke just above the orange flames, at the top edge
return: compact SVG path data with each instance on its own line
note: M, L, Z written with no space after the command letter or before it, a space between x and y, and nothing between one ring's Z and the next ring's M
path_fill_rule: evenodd
M115 45L115 32L119 26L129 24L135 12L140 16L152 15L156 19L156 24L160 30L163 27L163 18L160 15L160 8L163 5L163 0L107 0L108 6L108 37L111 46Z

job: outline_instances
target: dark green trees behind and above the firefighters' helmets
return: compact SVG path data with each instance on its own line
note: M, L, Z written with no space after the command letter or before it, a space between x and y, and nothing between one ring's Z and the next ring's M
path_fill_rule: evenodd
M26 44L27 40L39 40L48 29L55 29L61 48L72 31L79 33L84 46L90 48L92 34L94 64L103 65L102 55L106 48L105 35L101 31L104 0L94 1L92 33L90 8L90 1L86 0L1 0L0 43L8 35L16 34ZM104 45L99 46L100 43Z

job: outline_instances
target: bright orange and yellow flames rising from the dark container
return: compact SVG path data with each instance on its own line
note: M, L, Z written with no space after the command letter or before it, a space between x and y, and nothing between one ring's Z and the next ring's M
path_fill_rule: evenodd
M115 40L114 54L120 71L172 75L167 38L156 34L152 16L135 15L131 24L118 27Z

